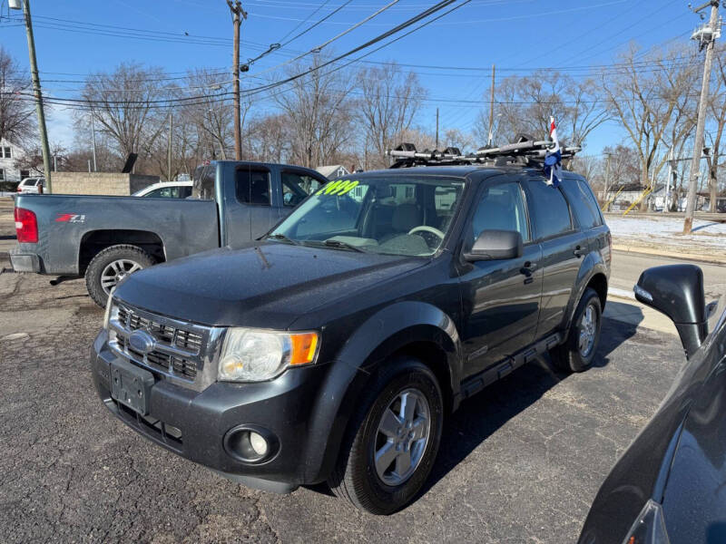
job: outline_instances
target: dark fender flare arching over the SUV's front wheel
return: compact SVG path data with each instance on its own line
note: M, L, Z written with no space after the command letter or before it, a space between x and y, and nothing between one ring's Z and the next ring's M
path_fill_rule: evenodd
M442 389L458 392L462 372L462 348L454 320L436 306L403 301L386 306L348 338L320 384L320 394L311 411L304 481L327 479L338 459L340 442L360 394L372 374L389 355L417 341L436 343L446 353L450 384Z

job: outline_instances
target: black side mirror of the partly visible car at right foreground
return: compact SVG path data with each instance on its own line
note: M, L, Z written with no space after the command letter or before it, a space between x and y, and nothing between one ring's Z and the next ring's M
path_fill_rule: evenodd
M708 335L701 268L694 265L648 268L633 292L644 305L672 319L686 357L691 357Z

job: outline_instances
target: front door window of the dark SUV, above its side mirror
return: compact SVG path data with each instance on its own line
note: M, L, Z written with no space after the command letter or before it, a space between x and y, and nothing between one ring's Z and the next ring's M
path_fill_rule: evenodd
M482 230L516 230L529 241L522 190L515 181L491 185L484 189L466 230L464 247L471 248Z

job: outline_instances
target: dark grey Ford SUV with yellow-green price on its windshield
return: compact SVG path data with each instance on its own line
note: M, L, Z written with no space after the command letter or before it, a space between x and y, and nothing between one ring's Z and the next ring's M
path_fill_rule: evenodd
M93 381L123 423L234 481L328 482L388 514L427 481L463 399L547 352L593 363L610 261L575 174L356 173L260 241L126 278Z

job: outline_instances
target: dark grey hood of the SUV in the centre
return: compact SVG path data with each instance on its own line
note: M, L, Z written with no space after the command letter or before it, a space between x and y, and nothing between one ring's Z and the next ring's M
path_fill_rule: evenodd
M203 325L287 328L297 317L428 262L353 251L256 243L147 268L114 296Z

